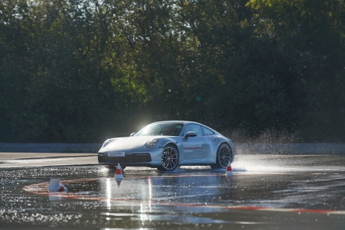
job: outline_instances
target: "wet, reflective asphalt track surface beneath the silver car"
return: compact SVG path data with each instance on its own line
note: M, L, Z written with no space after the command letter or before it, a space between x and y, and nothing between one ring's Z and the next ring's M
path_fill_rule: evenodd
M0 229L345 229L345 156L237 155L233 177L128 167L120 182L90 162L0 167Z

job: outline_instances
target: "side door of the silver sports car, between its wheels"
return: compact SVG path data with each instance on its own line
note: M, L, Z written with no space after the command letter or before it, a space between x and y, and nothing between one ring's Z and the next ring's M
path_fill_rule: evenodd
M189 131L197 133L196 137L189 137L185 139L184 136ZM188 124L184 128L182 133L182 142L181 142L181 162L190 161L190 160L201 160L205 157L209 149L209 143L206 138L203 136L201 131L201 126L197 124Z

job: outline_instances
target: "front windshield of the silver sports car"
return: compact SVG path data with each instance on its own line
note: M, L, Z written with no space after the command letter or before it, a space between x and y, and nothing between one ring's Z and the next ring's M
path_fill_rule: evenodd
M144 127L135 136L178 136L184 124L152 124Z

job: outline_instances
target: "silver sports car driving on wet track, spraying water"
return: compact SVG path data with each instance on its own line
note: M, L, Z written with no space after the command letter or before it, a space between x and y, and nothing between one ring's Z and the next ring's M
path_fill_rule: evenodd
M148 166L174 171L177 166L209 165L225 169L233 162L235 146L230 139L197 122L166 121L148 124L129 137L106 140L98 162L111 169Z

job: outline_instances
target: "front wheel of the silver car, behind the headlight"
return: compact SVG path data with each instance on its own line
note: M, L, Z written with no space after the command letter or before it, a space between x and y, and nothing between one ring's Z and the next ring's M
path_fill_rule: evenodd
M174 171L179 165L179 151L174 146L165 146L161 151L161 165L157 167L159 171Z

